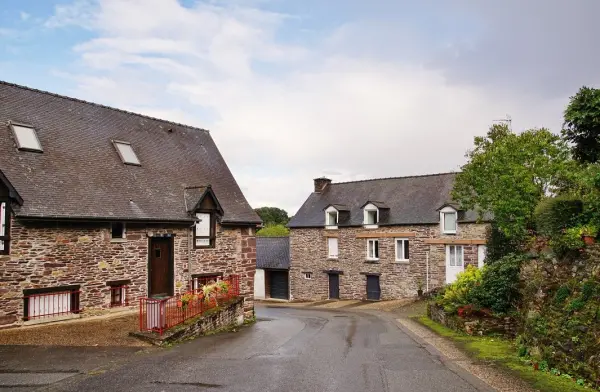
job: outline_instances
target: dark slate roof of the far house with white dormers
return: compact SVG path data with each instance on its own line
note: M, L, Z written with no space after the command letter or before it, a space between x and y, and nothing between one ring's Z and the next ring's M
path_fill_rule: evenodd
M288 224L289 227L323 227L328 205L350 207L350 217L340 226L362 226L363 207L368 201L389 208L383 225L436 224L437 208L451 202L450 193L456 173L381 178L329 184L322 193L312 193ZM465 211L459 222L475 222L477 214Z

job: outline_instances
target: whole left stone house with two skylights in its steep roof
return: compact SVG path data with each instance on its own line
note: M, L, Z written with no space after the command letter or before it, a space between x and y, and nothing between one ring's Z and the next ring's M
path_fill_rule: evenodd
M0 82L0 325L240 276L252 210L210 133Z

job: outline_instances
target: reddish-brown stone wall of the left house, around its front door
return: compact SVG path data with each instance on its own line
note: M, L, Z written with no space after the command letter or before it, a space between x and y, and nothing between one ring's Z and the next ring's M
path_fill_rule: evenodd
M216 247L189 247L188 225L127 224L127 239L113 242L109 223L12 221L11 252L0 255L0 325L20 323L23 290L80 285L84 315L110 305L107 281L128 279L129 302L148 293L148 244L152 236L172 236L174 291L188 289L201 272L240 275L240 294L252 314L256 243L252 229L218 227ZM190 261L191 256L191 263Z

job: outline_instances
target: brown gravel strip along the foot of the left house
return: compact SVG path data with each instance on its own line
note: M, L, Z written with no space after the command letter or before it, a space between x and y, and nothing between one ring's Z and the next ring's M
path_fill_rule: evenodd
M0 345L148 346L128 335L138 328L137 314L58 322L0 330Z

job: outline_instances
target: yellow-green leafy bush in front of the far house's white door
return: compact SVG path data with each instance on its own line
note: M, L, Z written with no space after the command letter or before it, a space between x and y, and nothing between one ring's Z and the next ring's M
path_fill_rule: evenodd
M459 307L473 304L473 291L479 285L481 270L469 265L457 275L454 283L446 286L443 295L438 296L437 303L444 307L446 313L454 314Z

